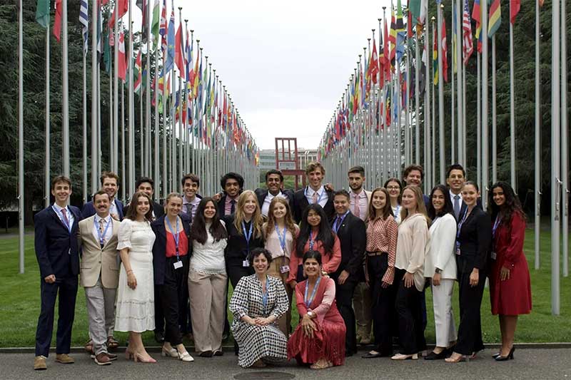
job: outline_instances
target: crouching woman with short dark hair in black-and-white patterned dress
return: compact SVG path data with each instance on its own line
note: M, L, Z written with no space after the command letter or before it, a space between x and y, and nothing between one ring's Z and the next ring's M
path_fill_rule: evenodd
M256 248L248 257L256 271L242 277L234 289L230 311L232 333L238 343L238 364L243 368L264 367L283 361L288 339L276 320L288 310L288 295L281 279L267 275L272 261L268 250Z

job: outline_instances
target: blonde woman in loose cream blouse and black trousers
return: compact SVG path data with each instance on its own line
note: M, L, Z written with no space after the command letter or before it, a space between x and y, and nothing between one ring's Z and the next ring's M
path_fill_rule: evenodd
M401 349L393 360L418 359L418 352L426 348L420 297L425 284L424 260L430 247L430 219L418 186L408 185L403 190L400 217L394 283L398 286L395 307Z

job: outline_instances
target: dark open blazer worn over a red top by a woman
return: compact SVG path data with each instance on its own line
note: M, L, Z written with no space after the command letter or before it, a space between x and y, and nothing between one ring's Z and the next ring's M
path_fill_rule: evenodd
M183 231L188 240L188 251L178 252L179 255L191 255L192 242L191 242L191 218L186 214L178 214L183 222ZM166 268L166 228L165 217L162 215L157 220L151 222L151 228L155 232L155 243L153 244L153 275L155 277L155 284L162 285L165 282L165 268ZM185 277L186 278L186 277Z

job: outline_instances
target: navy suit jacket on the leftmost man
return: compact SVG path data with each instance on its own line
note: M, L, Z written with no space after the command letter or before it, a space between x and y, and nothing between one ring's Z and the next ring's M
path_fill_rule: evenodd
M79 274L77 231L81 212L75 206L69 206L69 210L74 215L71 232L59 219L52 205L34 217L34 247L42 279L50 274L54 274L56 279Z

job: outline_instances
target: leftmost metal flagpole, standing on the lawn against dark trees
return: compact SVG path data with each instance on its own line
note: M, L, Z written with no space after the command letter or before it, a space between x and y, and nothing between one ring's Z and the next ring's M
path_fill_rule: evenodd
M64 3L66 1L63 1ZM24 19L18 1L18 249L19 273L24 274ZM67 26L67 24L64 24ZM64 30L67 29L66 27ZM49 30L49 28L48 28ZM66 32L64 32L66 33ZM67 37L67 33L64 35ZM49 75L49 73L48 73Z

